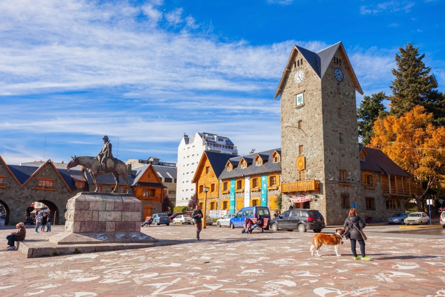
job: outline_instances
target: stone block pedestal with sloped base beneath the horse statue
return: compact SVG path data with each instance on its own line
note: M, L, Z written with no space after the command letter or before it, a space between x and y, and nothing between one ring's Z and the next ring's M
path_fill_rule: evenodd
M65 232L51 236L53 244L157 242L140 232L142 202L132 194L81 192L66 208Z

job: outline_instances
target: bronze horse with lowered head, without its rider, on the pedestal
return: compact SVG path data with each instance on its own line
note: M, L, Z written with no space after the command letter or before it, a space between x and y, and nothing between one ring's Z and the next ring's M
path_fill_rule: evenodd
M88 157L88 156L77 157L76 155L74 155L74 157L71 158L72 158L71 161L66 165L66 169L69 171L70 168L73 168L77 165L82 165L85 168L87 168L89 174L91 175L94 181L94 185L96 186L96 190L94 192L99 191L99 187L97 185L97 176L101 174L113 173L114 180L116 181L116 187L111 193L116 193L116 190L119 185L119 176L121 176L122 179L127 184L127 194L130 193L130 185L128 184L127 165L123 161L116 158L107 159L106 161L107 166L105 168L105 172L102 173L101 171L99 171L100 163L96 157Z

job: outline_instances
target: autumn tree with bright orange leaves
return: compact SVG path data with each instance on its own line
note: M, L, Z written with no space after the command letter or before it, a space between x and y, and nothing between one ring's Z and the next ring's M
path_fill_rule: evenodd
M445 127L434 127L432 120L433 114L423 106L415 106L401 117L378 118L370 142L411 175L418 211L424 210L428 191L445 186Z

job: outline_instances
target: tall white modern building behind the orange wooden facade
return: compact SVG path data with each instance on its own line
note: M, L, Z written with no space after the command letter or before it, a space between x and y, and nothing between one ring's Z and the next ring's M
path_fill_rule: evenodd
M211 133L184 135L178 147L178 184L176 205L188 205L188 200L195 193L195 184L191 183L204 150L211 150L237 155L238 150L227 137Z

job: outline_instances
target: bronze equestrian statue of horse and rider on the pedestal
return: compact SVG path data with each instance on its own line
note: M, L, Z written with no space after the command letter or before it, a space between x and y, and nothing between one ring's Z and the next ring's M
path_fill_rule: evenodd
M116 193L116 190L119 186L119 176L122 177L124 182L127 184L127 194L130 193L130 185L128 184L128 173L127 173L127 165L113 157L113 153L111 151L111 143L108 140L108 136L102 137L103 146L102 150L95 157L71 157L71 161L66 165L66 169L69 171L70 168L73 168L77 165L82 165L87 168L89 174L91 175L94 185L96 186L96 190L94 192L99 191L99 187L97 185L97 176L102 174L113 173L114 180L116 181L116 187L111 193Z

